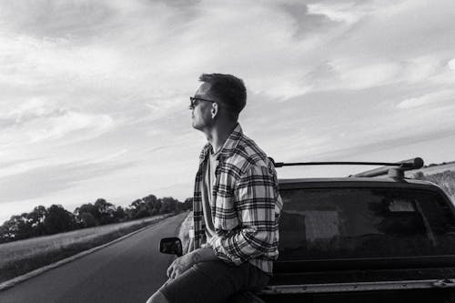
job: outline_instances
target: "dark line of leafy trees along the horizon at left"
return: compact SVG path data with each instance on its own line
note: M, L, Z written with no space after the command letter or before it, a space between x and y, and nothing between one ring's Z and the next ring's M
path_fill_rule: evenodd
M0 243L29 237L54 235L79 228L120 223L143 217L179 213L192 209L193 198L184 202L174 197L149 195L136 199L127 207L116 207L104 198L76 207L74 212L61 205L35 207L29 213L12 216L0 227Z

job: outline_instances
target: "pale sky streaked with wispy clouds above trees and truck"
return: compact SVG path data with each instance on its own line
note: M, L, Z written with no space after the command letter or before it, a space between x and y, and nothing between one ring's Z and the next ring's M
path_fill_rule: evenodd
M191 197L202 73L278 162L455 160L452 0L0 2L0 222ZM372 167L278 168L278 177Z

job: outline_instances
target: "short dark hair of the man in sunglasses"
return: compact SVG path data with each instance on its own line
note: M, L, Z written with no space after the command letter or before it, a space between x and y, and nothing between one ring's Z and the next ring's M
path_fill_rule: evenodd
M227 74L202 74L199 81L210 84L210 92L230 109L231 116L237 120L238 114L247 105L247 88L243 80Z

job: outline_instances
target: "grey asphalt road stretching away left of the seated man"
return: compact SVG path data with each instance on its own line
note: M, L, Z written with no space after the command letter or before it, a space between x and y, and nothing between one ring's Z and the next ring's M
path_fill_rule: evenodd
M166 280L174 259L159 253L162 237L177 236L187 214L169 217L84 258L0 292L1 303L143 302Z

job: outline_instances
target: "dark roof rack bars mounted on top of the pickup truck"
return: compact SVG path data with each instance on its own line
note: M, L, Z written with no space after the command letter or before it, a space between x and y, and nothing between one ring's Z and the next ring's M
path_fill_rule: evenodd
M382 166L379 168L367 170L356 175L349 177L377 177L382 175L389 175L389 177L403 178L404 172L412 169L419 169L423 167L423 160L421 157L414 157L408 160L399 162L296 162L284 163L275 162L273 158L269 157L275 167L297 167L297 166L333 166L333 165L366 165L366 166Z

